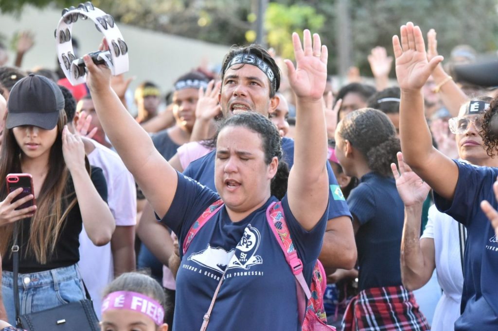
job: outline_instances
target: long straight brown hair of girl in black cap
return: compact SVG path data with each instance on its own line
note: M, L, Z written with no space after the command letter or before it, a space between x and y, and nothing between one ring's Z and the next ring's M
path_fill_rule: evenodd
M62 130L67 122L64 109L59 112L57 138L50 148L48 173L36 199L36 211L31 220L29 240L25 254L34 254L39 263L47 262L47 253L52 254L63 228L64 220L76 204L74 189L66 190L69 170L62 154ZM7 196L5 176L21 171L21 149L11 129L3 131L0 153L0 199ZM65 210L63 202L70 201ZM18 221L19 222L19 221ZM0 232L0 254L3 255L12 240L13 224L4 226Z

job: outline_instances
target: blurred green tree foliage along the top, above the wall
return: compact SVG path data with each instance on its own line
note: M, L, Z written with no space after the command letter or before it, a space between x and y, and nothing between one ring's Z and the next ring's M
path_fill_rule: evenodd
M284 57L292 56L290 34L309 28L329 46L329 70L336 72L337 2L339 0L269 0L266 40ZM257 0L94 0L117 21L225 45L254 38ZM19 11L30 3L63 8L71 0L0 0L2 12ZM438 50L448 56L458 44L478 52L498 48L498 0L349 0L352 63L370 75L367 55L384 46L392 55L391 37L408 20L424 32L438 33ZM393 73L392 73L393 74Z

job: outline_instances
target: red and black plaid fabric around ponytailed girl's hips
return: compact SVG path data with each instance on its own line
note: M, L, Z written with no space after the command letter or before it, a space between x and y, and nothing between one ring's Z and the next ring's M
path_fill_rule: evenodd
M430 330L410 291L403 286L361 291L351 300L344 319L345 331Z

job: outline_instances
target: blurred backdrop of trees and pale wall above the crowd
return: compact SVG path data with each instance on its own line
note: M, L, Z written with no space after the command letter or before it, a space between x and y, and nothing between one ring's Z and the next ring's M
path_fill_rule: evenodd
M292 58L290 35L304 28L329 46L329 74L344 83L351 67L372 76L367 60L375 46L392 56L391 37L411 20L438 33L438 51L449 57L459 44L478 57L494 56L498 44L497 0L94 0L114 16L129 46L130 75L170 86L182 73L202 66L216 70L228 46L261 43ZM34 33L35 46L23 68L55 67L53 31L71 0L0 0L0 42L14 57L16 35ZM74 25L80 56L97 49L93 23ZM12 62L13 60L11 60ZM146 75L144 75L146 73ZM393 78L394 70L390 73ZM132 87L133 83L132 83Z

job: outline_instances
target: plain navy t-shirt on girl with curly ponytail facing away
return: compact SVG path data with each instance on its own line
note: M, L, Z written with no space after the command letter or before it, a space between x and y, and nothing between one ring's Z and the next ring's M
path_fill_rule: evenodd
M356 234L358 288L401 285L399 248L404 205L394 178L375 172L365 174L351 191L348 206L361 225Z

